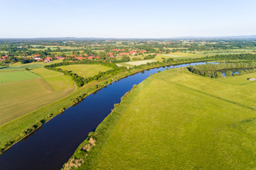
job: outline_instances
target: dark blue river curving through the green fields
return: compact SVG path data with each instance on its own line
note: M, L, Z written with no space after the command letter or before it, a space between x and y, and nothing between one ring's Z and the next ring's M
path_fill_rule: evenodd
M55 116L48 123L16 143L0 156L1 170L61 169L89 132L95 130L134 84L166 68L187 67L206 62L159 67L133 74L87 96L83 101Z

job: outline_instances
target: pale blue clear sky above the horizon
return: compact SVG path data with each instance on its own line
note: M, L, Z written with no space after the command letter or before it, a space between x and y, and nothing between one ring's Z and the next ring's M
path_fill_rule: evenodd
M0 0L0 38L256 35L255 0Z

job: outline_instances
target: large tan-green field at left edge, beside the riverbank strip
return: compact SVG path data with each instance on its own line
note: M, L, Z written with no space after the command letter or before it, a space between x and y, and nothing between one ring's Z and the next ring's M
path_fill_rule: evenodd
M61 75L51 78L0 84L0 125L46 106L74 91L75 86L70 77Z

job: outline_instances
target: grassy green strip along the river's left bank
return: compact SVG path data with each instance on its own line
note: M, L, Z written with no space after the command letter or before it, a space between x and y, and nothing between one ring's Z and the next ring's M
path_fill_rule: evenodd
M183 62L184 63L184 62ZM186 62L187 63L187 62ZM110 84L113 81L117 81L118 79L122 79L132 74L136 74L137 72L142 72L145 69L151 69L155 67L162 67L165 65L170 65L169 63L156 63L154 65L145 65L139 69L132 69L125 72L121 72L117 75L109 75L107 77L103 77L99 81L92 81L90 84L86 84L82 86L80 89L77 89L66 96L65 98L60 99L59 101L55 101L50 105L40 108L33 113L29 113L21 118L18 118L10 123L6 123L0 127L0 141L1 141L1 151L3 152L10 146L14 145L14 143L23 139L23 137L27 136L33 130L41 127L44 123L48 122L51 118L55 117L59 113L65 111L65 109L73 106L75 103L78 103L93 92L101 89L103 86ZM178 64L178 63L175 63Z

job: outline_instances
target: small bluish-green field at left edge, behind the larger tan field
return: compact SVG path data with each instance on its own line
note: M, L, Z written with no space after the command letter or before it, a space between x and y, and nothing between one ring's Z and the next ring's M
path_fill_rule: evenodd
M0 72L0 84L12 81L22 81L28 79L38 79L40 76L28 71L20 72Z

